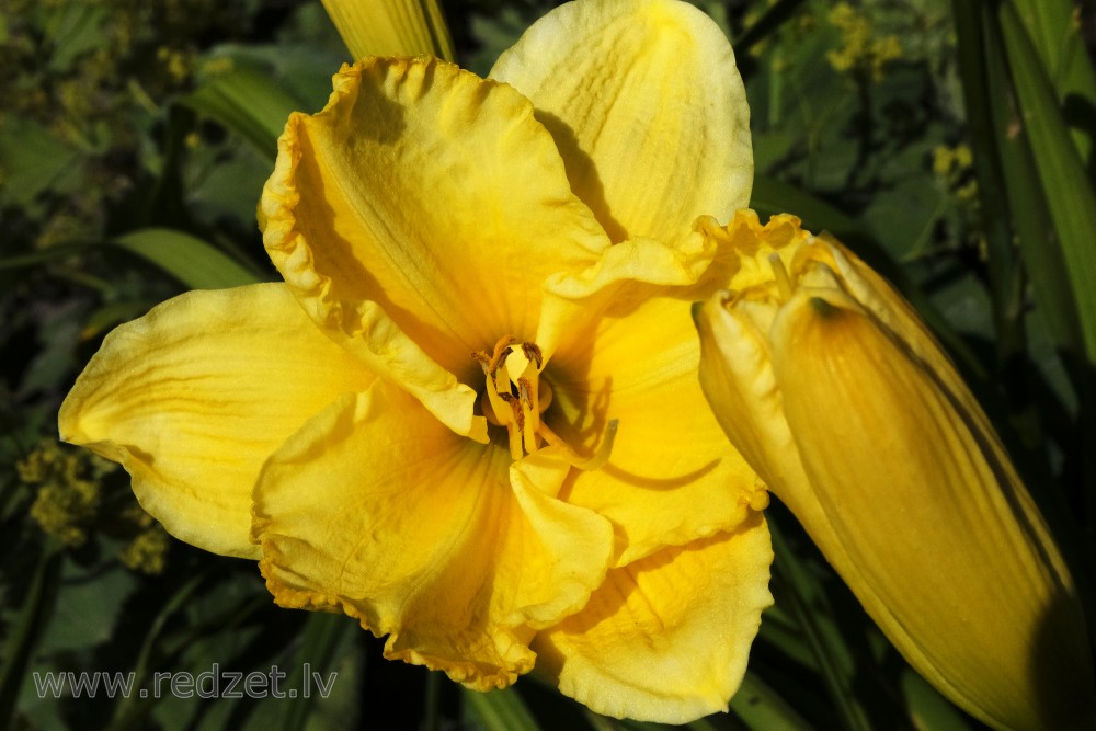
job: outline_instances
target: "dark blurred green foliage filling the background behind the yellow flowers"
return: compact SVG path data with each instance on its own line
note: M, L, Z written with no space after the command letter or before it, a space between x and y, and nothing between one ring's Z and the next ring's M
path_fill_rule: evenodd
M443 2L486 73L556 3ZM1094 9L1071 0L698 0L733 39L753 207L834 232L945 343L1055 528L1093 621ZM114 325L275 279L254 209L292 110L346 52L319 2L0 7L0 728L655 729L523 678L468 693L255 567L171 539L56 412ZM777 603L708 729L980 724L913 673L779 505ZM328 698L39 698L33 673L338 672ZM294 678L284 687L293 687ZM299 686L299 682L297 683Z

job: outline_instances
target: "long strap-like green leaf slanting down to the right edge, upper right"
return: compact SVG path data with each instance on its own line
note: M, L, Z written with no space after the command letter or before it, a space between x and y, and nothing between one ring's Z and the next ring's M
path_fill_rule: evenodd
M998 13L1024 127L1073 284L1087 359L1096 364L1096 287L1092 286L1096 275L1096 194L1016 8L1005 2Z

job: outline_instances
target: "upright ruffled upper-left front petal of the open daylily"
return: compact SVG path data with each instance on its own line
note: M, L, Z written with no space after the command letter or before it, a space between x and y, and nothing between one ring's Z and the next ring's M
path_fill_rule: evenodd
M608 241L513 89L424 58L344 67L334 87L278 142L260 205L267 251L370 367L388 344L357 324L362 301L472 382L469 354L505 334L533 340L545 278L585 269Z

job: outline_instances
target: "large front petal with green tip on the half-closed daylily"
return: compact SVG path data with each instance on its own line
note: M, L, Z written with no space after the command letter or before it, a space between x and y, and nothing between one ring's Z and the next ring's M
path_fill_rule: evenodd
M996 728L1091 721L1072 580L970 395L940 388L943 354L912 358L847 296L807 289L773 343L808 478L895 644Z

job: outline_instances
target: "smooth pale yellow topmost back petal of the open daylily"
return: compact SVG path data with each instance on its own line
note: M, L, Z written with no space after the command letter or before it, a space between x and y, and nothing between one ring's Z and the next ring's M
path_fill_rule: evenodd
M557 8L491 78L533 100L571 185L614 241L676 241L750 201L750 110L722 31L672 0Z

